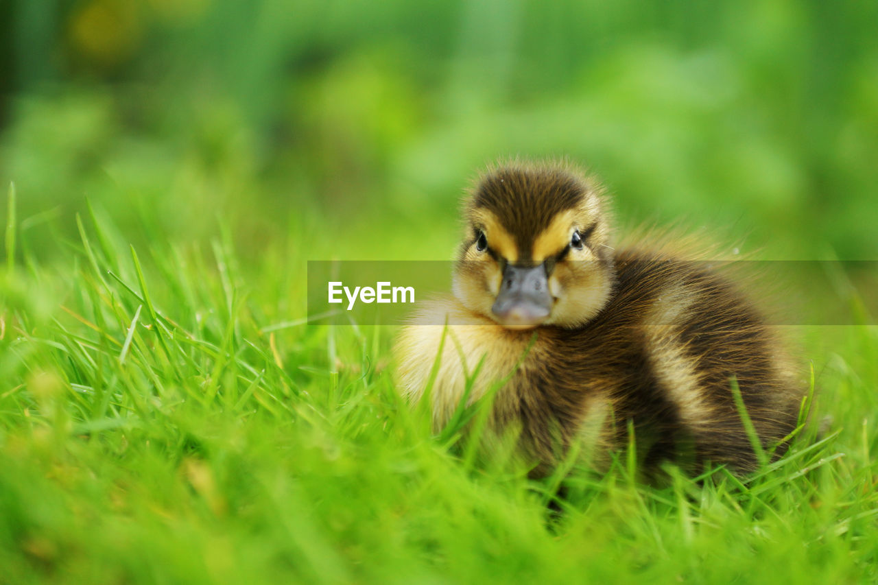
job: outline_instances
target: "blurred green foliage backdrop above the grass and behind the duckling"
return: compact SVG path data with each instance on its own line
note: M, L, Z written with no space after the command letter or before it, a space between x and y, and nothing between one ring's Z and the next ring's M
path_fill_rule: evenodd
M869 1L4 0L0 179L37 257L88 198L132 242L447 258L474 173L568 156L625 224L875 259L876 30Z

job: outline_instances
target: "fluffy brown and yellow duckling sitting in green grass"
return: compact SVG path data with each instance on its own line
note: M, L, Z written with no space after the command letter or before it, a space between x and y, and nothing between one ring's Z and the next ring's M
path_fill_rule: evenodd
M606 469L632 430L646 472L671 460L744 474L759 456L737 384L763 452L784 450L802 392L773 329L705 264L612 247L594 178L507 163L480 177L464 219L453 295L428 303L395 345L401 392L429 401L435 430L464 398L492 394L487 429L515 433L533 477L577 443Z

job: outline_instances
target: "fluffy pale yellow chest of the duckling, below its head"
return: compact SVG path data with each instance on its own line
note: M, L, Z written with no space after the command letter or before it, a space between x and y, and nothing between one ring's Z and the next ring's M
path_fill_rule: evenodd
M437 315L443 318L437 319ZM444 318L447 328L438 324ZM420 401L438 358L430 401L433 424L436 429L442 428L454 414L468 385L471 403L507 379L516 366L527 367L522 358L532 337L532 332L510 331L472 314L456 300L437 300L400 332L396 344L399 386L409 401Z

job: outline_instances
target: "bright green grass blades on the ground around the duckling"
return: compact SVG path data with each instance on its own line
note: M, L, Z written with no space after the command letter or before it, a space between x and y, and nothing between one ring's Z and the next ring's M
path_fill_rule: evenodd
M874 328L796 329L812 420L752 478L533 481L400 401L392 329L297 320L303 227L245 262L96 209L43 261L9 201L0 582L878 579Z

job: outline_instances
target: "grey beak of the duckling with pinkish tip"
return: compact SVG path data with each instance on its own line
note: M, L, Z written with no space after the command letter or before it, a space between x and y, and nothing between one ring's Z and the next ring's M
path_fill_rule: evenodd
M530 329L549 318L552 297L543 264L534 267L507 264L500 293L491 312L509 329Z

